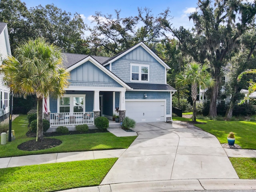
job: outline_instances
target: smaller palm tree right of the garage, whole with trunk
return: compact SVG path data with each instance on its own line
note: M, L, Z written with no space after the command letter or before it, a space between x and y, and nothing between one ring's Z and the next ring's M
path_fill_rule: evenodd
M191 97L193 100L193 122L196 122L196 97L198 94L198 86L201 86L204 89L210 88L215 84L212 75L210 72L208 72L209 68L209 64L201 65L193 62L186 66L185 70L177 74L175 78L175 83L177 86L191 84Z

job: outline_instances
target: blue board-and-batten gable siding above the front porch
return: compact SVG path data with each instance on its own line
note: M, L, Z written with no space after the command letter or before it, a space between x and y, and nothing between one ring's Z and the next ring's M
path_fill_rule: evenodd
M87 61L70 72L70 86L122 87L92 62Z

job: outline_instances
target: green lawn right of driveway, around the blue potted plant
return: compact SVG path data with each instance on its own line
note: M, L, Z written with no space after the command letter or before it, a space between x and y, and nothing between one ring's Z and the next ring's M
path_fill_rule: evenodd
M173 120L191 121L191 119L175 117ZM236 134L235 144L243 149L256 149L256 122L252 121L214 121L198 119L198 122L206 124L195 124L195 126L215 135L220 143L227 143L229 132Z

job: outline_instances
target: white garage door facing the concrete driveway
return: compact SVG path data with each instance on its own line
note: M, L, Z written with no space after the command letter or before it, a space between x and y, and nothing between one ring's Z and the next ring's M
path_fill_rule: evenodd
M165 101L129 101L125 102L126 116L133 118L137 123L165 121Z

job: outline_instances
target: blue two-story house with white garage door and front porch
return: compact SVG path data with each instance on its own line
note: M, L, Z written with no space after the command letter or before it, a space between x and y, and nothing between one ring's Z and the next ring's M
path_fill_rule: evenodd
M48 98L51 126L94 124L98 116L112 119L119 108L141 122L172 120L172 95L166 83L170 69L140 42L112 58L64 53L70 86L58 99Z

